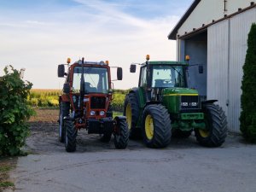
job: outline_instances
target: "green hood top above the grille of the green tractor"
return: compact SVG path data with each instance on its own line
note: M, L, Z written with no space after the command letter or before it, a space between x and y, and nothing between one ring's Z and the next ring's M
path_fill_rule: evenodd
M162 90L162 96L198 96L198 91L189 88L166 88Z

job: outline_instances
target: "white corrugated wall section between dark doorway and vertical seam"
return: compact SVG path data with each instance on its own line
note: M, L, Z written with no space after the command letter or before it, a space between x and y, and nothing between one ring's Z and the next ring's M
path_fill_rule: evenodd
M207 29L207 100L218 99L227 115L229 20Z

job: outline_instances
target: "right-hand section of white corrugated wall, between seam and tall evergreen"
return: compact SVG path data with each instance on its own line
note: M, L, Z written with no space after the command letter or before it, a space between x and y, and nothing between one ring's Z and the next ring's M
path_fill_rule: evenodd
M252 23L256 23L256 8L230 19L230 73L229 73L229 128L239 131L241 113L241 79L247 53L247 35ZM255 98L254 98L255 99Z

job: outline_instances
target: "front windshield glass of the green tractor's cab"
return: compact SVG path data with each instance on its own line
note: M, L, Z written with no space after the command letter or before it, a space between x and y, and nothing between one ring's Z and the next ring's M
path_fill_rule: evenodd
M154 66L152 87L186 87L182 66Z

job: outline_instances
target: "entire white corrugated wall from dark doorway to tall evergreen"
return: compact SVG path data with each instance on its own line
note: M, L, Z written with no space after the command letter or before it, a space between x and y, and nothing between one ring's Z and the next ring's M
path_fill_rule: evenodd
M256 8L207 28L207 99L218 98L233 132L240 131L242 66L253 22Z

